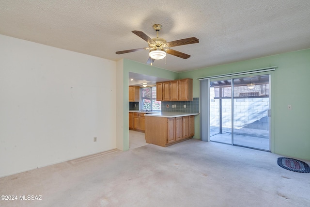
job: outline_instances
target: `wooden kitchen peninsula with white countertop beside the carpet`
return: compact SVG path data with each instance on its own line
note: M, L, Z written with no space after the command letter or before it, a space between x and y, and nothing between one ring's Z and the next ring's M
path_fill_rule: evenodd
M159 146L183 142L194 136L194 116L199 113L161 112L145 114L145 140Z

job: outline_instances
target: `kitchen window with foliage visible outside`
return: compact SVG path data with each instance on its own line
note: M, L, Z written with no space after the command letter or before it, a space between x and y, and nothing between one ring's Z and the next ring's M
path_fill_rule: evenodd
M140 110L161 111L161 101L156 101L156 87L141 88Z

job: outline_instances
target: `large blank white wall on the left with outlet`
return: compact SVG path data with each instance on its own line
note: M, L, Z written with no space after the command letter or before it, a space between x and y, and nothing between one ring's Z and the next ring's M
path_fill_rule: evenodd
M116 148L116 68L0 35L0 177Z

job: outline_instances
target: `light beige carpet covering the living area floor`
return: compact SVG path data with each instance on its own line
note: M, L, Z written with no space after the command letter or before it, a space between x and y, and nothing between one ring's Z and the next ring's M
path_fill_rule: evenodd
M310 174L273 153L188 140L98 154L0 178L1 207L309 207ZM303 160L309 163L309 160Z

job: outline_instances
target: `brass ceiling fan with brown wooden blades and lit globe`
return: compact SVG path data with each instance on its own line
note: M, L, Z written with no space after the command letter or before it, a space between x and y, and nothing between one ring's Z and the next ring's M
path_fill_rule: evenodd
M140 50L147 50L149 49L149 59L147 61L147 64L153 64L155 60L160 60L166 57L166 53L177 56L179 58L187 59L190 57L190 55L187 55L183 52L179 52L176 50L171 49L175 46L181 46L181 45L188 45L188 44L194 44L199 43L199 40L196 37L190 37L186 39L181 40L175 40L172 42L167 42L165 39L158 37L158 32L161 30L162 26L160 24L153 25L154 30L157 33L157 37L150 38L148 35L146 35L144 32L141 31L131 31L134 34L138 35L140 38L145 40L148 44L148 48L138 48L138 49L129 49L129 50L123 50L123 51L117 51L116 54L124 54L128 52L136 52Z

